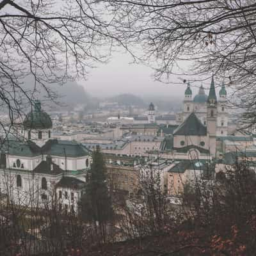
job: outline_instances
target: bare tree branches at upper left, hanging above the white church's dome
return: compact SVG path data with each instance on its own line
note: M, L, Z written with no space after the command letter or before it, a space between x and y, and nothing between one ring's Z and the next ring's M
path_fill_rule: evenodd
M38 95L56 100L52 83L84 78L106 61L113 37L87 1L0 1L1 127L19 123ZM26 84L26 83L31 83Z

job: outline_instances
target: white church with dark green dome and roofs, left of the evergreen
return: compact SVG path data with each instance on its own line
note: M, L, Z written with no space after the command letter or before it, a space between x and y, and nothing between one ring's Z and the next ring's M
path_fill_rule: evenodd
M78 211L90 152L76 141L51 138L52 120L37 100L22 124L22 140L1 145L0 193L24 207Z

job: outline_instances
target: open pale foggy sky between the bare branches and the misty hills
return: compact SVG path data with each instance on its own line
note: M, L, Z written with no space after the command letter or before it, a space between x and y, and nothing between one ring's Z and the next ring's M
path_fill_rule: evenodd
M154 81L152 68L129 64L128 54L118 53L111 61L90 71L88 80L79 81L86 92L97 97L108 97L120 93L139 96L183 97L186 84L173 85ZM195 92L198 89L196 88Z

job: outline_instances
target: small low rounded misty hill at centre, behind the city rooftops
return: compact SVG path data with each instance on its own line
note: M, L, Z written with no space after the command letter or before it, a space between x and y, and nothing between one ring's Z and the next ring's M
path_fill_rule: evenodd
M145 106L145 102L143 101L143 99L141 99L141 97L138 97L130 93L124 93L124 94L116 95L114 97L108 97L106 100L108 102L118 102L119 105L125 105L125 106L138 106L138 107Z

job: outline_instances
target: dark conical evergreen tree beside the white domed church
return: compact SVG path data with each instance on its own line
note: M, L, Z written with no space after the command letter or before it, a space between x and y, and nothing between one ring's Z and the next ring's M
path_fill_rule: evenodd
M88 171L88 179L81 202L81 214L84 221L93 223L100 240L105 241L106 227L112 220L113 209L108 191L106 164L99 147L93 152L92 159L92 167Z

